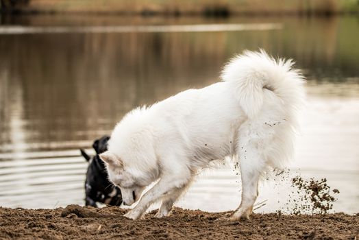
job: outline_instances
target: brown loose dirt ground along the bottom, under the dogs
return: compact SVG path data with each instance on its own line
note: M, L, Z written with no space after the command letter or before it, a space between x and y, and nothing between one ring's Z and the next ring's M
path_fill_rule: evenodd
M170 217L132 221L119 207L0 208L0 239L358 239L359 214L254 214L215 221L224 213L175 208Z

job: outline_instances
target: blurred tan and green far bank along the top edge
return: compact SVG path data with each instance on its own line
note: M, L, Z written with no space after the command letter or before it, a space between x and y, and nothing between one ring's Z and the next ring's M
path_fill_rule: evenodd
M2 12L118 14L338 14L359 11L358 0L0 0Z

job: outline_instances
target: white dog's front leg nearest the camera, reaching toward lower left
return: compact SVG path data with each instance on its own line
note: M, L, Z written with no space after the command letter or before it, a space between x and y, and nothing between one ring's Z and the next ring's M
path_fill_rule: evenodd
M187 182L188 178L183 178L183 176L177 178L175 176L161 178L141 197L140 202L124 216L134 220L139 219L145 214L145 211L153 202L160 200L164 195L171 194L171 192L177 189L182 189Z

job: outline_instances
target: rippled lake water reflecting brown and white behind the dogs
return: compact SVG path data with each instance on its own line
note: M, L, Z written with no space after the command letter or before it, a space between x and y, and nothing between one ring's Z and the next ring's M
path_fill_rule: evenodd
M0 206L84 204L79 147L136 106L216 82L223 63L259 47L293 58L308 106L286 178L261 186L258 212L286 208L290 176L326 177L334 211L359 212L359 21L334 18L16 16L0 20ZM177 206L227 211L240 182L203 171Z

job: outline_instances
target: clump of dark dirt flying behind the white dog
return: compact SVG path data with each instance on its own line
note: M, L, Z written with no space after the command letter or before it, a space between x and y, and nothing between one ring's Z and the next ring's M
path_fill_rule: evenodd
M304 180L301 176L292 178L292 187L297 187L299 198L293 200L293 214L303 213L328 213L333 208L336 198L331 195L330 186L327 179ZM333 193L339 193L338 189L333 189Z

